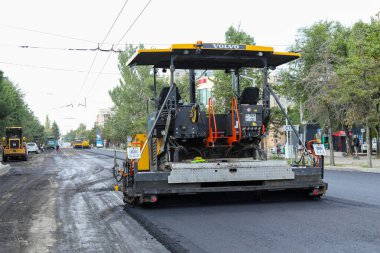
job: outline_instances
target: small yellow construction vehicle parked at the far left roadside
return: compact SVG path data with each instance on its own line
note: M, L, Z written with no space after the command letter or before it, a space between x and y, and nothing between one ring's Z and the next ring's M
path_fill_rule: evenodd
M5 128L3 137L3 162L15 157L24 161L28 160L28 150L25 137L22 136L22 127Z

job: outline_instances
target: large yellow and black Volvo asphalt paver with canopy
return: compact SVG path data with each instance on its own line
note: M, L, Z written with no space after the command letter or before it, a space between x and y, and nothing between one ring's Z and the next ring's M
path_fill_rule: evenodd
M268 84L268 70L299 57L272 47L201 41L138 50L127 65L153 66L154 111L147 115L147 133L132 139L126 162L114 166L124 202L143 204L156 202L161 195L204 192L300 190L322 196L327 183L322 180L320 153L311 154L303 145L303 161L288 165L266 160L262 145L271 95L287 117ZM240 90L241 73L247 68L262 70L261 88ZM159 69L170 71L170 83L157 94ZM181 99L176 87L178 69L189 73L189 101ZM232 80L235 96L226 113L216 113L212 97L206 105L197 101L195 73L206 70L222 70Z

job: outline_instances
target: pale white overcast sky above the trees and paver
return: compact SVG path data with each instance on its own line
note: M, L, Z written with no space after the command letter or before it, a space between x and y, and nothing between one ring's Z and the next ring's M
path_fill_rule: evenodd
M110 49L124 34L122 45L143 43L148 48L197 40L223 42L227 28L240 25L257 45L284 51L294 42L299 28L320 20L350 26L358 20L369 22L380 11L379 0L151 0L132 25L148 2L127 2L103 49ZM63 134L76 129L80 122L91 128L98 110L112 106L108 90L119 83L117 54L99 52L95 58L93 51L61 49L96 48L106 38L124 3L125 0L1 1L0 70L22 89L42 124L49 115ZM85 97L86 107L78 106L84 104ZM70 104L73 106L65 107Z

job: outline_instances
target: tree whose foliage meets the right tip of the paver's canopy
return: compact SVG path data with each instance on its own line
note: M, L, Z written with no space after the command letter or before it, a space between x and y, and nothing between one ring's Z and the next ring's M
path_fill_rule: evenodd
M345 28L338 22L318 22L299 30L292 50L302 51L302 57L280 72L283 80L278 91L296 105L302 105L304 119L327 127L330 140L330 164L334 165L332 132L338 124L334 90L339 84L336 68L344 54L341 38ZM339 50L340 49L340 50Z

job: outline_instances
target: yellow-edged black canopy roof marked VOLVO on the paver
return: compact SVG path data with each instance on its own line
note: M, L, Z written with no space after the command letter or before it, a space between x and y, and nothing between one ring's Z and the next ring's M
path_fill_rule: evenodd
M153 65L169 68L171 57L176 69L233 69L277 67L298 59L300 54L274 52L272 47L200 43L173 44L168 49L140 49L128 61L128 66Z

